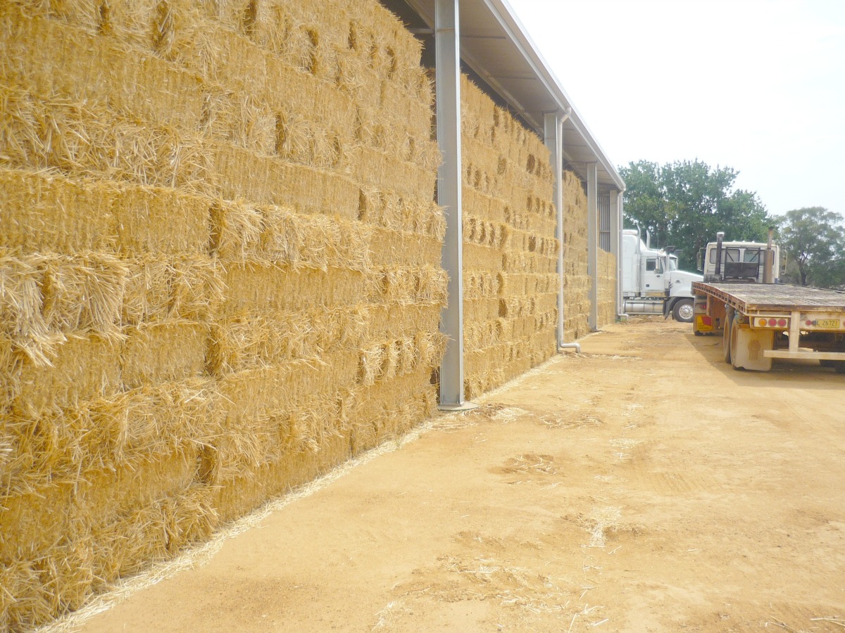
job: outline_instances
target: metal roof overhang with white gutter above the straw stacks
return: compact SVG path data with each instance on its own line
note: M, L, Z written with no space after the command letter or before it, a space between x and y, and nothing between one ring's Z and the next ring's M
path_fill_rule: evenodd
M383 0L383 4L405 19L423 40L426 35L433 39L434 0ZM601 189L624 190L624 181L615 165L510 5L505 0L460 0L459 12L461 60L466 67L482 78L540 138L544 113L570 111L564 122L564 158L568 166L586 178L586 165L595 162ZM430 48L433 50L433 46Z

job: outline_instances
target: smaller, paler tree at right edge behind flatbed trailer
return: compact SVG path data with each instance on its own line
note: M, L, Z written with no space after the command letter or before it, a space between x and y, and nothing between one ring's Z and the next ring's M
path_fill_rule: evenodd
M780 223L779 242L788 257L788 274L803 286L834 288L845 284L845 230L842 215L824 207L788 211Z

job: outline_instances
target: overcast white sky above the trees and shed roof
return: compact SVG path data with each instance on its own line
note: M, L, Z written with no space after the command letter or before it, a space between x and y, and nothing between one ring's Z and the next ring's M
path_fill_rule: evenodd
M508 0L614 165L845 215L845 0Z

